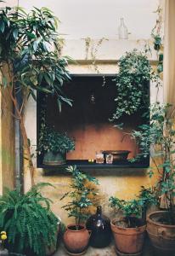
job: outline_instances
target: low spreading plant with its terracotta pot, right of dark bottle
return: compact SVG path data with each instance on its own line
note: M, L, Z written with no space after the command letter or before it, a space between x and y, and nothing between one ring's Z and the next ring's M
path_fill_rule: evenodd
M109 201L110 207L122 214L121 218L112 219L110 222L116 252L140 255L146 231L145 212L150 204L155 203L151 189L143 187L137 199L125 201L111 196Z

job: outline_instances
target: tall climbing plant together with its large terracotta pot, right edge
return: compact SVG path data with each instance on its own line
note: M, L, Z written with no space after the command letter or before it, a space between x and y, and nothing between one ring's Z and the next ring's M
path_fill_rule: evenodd
M150 154L160 175L155 184L155 196L161 211L152 212L147 218L147 231L159 255L174 255L175 252L174 136L174 108L159 102L150 106L150 125L142 125L139 131L133 131L133 137L138 139L142 149L138 157ZM156 161L157 157L161 164ZM153 171L150 170L150 175Z

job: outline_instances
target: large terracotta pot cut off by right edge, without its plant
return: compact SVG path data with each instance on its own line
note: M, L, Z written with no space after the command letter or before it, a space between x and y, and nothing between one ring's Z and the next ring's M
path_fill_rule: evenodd
M147 217L147 232L159 256L175 255L175 225L161 224L158 220L167 215L166 211L152 212Z

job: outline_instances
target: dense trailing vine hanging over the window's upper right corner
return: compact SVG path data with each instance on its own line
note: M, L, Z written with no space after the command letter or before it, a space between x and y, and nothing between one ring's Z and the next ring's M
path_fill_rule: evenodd
M111 120L119 119L123 114L136 113L149 103L149 82L155 79L146 55L133 49L121 56L119 73L116 74L116 112Z

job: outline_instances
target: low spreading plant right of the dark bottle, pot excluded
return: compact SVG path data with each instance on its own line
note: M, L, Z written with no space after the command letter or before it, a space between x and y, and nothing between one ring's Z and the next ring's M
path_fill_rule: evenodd
M144 187L141 187L138 198L136 199L126 201L115 196L110 196L109 201L110 207L115 211L121 210L128 228L136 227L138 218L141 218L142 222L145 223L148 207L157 203L154 191Z

